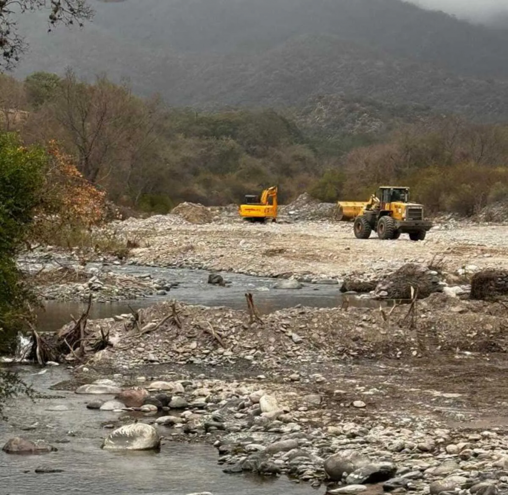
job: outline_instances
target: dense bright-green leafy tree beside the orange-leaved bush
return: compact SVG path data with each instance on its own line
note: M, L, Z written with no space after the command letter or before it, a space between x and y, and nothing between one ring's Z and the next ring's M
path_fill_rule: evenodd
M0 351L10 350L30 300L16 257L41 202L46 165L42 148L24 148L16 134L0 134Z

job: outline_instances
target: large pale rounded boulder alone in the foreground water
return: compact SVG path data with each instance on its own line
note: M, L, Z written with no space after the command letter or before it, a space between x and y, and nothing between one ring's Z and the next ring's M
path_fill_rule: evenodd
M161 438L157 430L145 423L132 423L114 430L102 444L108 450L158 450Z

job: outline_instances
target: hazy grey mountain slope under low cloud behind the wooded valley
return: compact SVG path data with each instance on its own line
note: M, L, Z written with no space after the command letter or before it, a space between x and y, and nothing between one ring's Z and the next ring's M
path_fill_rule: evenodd
M508 30L400 0L92 2L83 29L20 28L31 51L16 71L88 79L106 72L172 105L305 105L321 95L426 105L508 119Z

